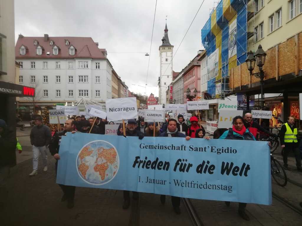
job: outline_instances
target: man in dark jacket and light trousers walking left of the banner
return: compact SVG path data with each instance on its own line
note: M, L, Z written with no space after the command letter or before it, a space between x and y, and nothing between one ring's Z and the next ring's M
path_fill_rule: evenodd
M43 159L43 171L47 171L47 149L51 140L51 133L48 126L42 124L42 118L37 117L35 126L31 129L31 145L33 146L33 171L30 176L38 174L39 153Z

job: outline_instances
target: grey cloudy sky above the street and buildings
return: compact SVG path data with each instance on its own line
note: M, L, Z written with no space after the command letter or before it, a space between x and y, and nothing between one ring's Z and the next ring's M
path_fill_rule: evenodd
M158 96L159 46L169 29L174 52L203 0L158 0L146 95ZM92 37L108 52L108 59L130 91L145 93L147 67L156 0L15 0L15 41L24 36ZM205 0L173 59L173 70L181 71L197 55L201 28L209 18L214 0ZM132 84L140 85L135 86Z

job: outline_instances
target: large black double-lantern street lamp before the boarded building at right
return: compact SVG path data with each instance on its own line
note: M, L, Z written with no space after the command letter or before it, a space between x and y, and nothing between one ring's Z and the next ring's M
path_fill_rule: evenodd
M249 69L249 73L252 76L255 76L256 78L260 78L260 88L261 88L261 101L260 101L260 109L263 110L264 107L264 91L263 91L263 86L264 86L264 78L265 74L262 69L264 63L265 63L265 58L266 58L266 53L262 49L262 46L259 45L257 51L255 52L255 55L253 54L252 50L249 51L247 58L246 58L246 65L247 68ZM255 63L257 63L257 66L259 67L259 71L257 73L252 73L255 67Z

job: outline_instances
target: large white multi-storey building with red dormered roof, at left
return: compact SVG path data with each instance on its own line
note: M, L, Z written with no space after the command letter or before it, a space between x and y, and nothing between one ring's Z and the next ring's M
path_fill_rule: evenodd
M111 99L112 65L105 56L91 38L19 35L19 83L36 89L35 99L20 98L20 105Z

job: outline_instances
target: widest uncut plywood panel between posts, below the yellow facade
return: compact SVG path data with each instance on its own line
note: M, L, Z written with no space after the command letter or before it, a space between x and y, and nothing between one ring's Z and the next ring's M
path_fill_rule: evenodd
M279 44L279 76L295 72L295 38Z

